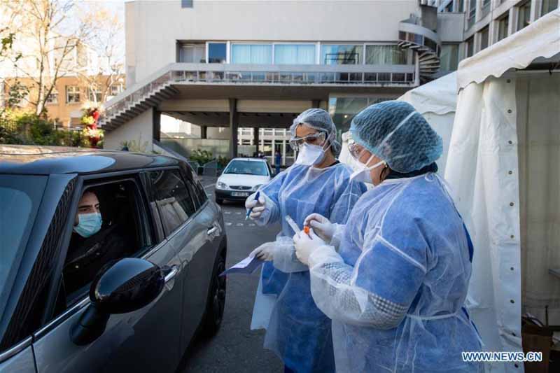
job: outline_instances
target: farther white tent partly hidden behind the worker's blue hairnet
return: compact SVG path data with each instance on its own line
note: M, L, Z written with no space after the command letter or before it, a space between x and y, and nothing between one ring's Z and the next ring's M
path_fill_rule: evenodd
M442 78L414 88L414 90L409 90L398 98L398 100L408 102L414 106L416 111L421 113L433 129L442 136L443 155L437 160L438 173L441 175L444 174L449 139L451 138L451 129L455 116L457 102L456 80L456 73L450 73ZM346 164L349 164L350 156L347 150L349 139L349 132L342 134L342 152L339 155L339 160Z

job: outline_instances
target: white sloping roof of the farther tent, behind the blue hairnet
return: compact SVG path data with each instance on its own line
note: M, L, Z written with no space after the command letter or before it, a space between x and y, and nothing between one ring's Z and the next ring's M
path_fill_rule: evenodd
M457 73L449 73L430 83L409 90L399 101L406 101L421 114L446 114L457 106Z

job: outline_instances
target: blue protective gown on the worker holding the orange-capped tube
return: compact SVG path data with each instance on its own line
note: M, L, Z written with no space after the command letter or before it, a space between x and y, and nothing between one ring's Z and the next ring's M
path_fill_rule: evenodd
M339 253L309 257L337 372L483 371L461 357L481 348L464 307L472 243L438 176L384 181L337 232Z

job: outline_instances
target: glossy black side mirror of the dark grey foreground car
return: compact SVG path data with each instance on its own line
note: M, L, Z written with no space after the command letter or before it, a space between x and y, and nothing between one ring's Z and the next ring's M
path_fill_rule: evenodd
M90 344L105 331L111 314L126 314L150 304L165 285L162 269L138 258L110 262L95 276L90 305L70 329L72 342Z

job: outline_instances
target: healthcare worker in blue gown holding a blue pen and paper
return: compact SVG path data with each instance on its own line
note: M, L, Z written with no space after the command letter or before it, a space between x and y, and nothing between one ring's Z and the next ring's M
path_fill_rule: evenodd
M260 188L260 197L248 197L246 208L258 225L281 223L276 241L256 248L251 255L267 260L255 297L251 328L267 328L265 348L281 358L286 372L335 372L330 319L311 297L309 270L295 256L290 216L302 229L310 213L346 223L365 192L363 183L351 182L351 169L336 160L340 144L330 115L311 108L290 127L290 146L298 151L293 166ZM262 302L268 297L272 302ZM254 325L255 316L264 325Z

